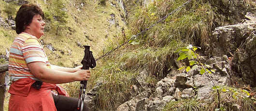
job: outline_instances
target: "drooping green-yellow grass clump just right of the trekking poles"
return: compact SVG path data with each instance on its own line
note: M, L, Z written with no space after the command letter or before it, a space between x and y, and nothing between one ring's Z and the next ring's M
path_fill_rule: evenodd
M102 83L96 97L99 109L114 110L116 108L114 101L125 102L128 99L136 73L120 69L119 66L120 64L114 61L108 61L105 66L93 71L92 79ZM97 81L88 87L94 86Z

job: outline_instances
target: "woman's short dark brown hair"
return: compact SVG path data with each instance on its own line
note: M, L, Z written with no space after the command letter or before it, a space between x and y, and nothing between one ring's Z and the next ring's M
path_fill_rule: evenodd
M42 9L36 4L23 4L15 17L16 33L20 34L32 22L34 15L40 14L44 18Z

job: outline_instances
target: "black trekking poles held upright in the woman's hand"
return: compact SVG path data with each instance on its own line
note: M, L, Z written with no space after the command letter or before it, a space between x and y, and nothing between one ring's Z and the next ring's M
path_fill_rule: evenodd
M92 55L92 52L90 51L90 46L84 45L84 47L85 47L85 56L81 62L83 64L82 69L86 69L86 70L89 68L92 69L96 67L96 61ZM80 91L79 91L79 98L78 98L79 101L77 106L78 111L83 111L83 108L84 108L86 85L87 85L87 81L80 82Z

